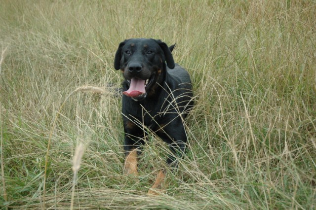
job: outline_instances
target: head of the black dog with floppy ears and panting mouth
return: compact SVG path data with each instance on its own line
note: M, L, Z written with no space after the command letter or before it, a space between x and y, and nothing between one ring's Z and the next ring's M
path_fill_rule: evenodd
M122 70L127 90L123 94L135 101L143 100L162 81L164 71L175 64L167 44L156 39L127 39L121 42L115 55L114 68Z

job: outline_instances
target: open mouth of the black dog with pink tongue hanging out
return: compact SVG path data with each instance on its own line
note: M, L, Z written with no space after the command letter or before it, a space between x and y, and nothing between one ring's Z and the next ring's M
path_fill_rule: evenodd
M155 74L153 74L149 79L139 79L139 78L132 78L130 80L127 80L129 84L129 89L124 91L123 94L128 97L132 97L135 99L141 99L145 98L147 93L146 93L146 88L149 87L155 78Z

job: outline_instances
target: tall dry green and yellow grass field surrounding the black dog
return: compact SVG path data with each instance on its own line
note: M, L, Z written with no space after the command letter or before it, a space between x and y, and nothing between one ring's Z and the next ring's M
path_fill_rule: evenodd
M314 0L0 0L0 207L315 209L315 11ZM140 176L122 174L113 63L131 37L177 43L194 84L189 149L156 197L168 150L155 135Z

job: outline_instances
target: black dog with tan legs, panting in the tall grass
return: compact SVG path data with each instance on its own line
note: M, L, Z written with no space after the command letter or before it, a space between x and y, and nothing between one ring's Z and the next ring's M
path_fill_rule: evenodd
M190 76L174 63L170 47L156 39L127 39L121 42L114 67L121 70L123 82L122 115L124 122L124 173L138 175L137 156L144 143L144 126L165 141L173 155L183 154L187 135L183 120L193 106ZM165 171L158 173L149 194L162 190Z

